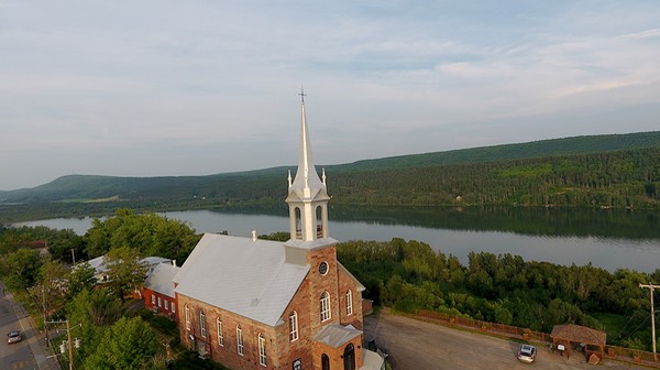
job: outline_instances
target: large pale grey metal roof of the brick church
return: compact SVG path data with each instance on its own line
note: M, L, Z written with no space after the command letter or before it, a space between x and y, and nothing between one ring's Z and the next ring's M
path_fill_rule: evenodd
M309 271L283 242L205 233L174 276L175 292L275 326Z

